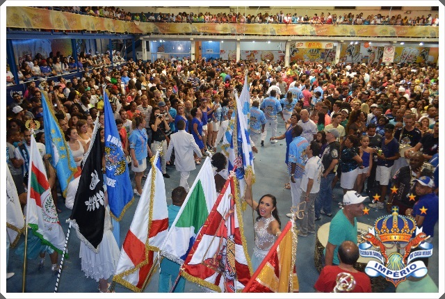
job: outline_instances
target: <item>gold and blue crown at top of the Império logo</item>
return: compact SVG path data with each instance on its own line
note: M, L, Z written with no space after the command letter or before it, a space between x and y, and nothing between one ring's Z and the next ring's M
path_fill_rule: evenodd
M374 227L382 243L409 242L416 230L416 222L412 217L398 215L398 207L392 207L391 215L375 220Z

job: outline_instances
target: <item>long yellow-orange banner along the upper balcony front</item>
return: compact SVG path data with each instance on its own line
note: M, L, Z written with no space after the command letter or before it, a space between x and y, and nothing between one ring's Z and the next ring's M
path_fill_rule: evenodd
M7 7L6 26L21 29L109 31L117 33L163 34L248 34L357 37L438 38L438 26L311 25L311 24L213 24L125 22L56 10L24 6Z

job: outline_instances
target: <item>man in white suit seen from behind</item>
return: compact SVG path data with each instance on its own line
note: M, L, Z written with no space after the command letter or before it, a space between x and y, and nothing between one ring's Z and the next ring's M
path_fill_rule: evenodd
M186 132L186 122L184 122L184 120L179 120L177 127L177 133L170 136L170 143L168 145L167 154L165 155L165 160L170 161L172 150L175 149L175 167L177 171L181 172L179 186L184 187L188 192L188 189L190 188L187 182L188 176L190 175L191 170L196 169L193 152L200 158L202 158L202 154L200 147L195 143L193 135Z

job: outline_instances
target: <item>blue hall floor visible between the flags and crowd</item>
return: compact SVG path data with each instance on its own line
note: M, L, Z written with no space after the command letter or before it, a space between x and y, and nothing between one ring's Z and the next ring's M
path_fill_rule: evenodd
M277 135L281 135L284 132L284 126L282 123L278 126ZM268 136L269 138L270 136ZM289 213L291 207L291 191L284 189L284 184L289 181L289 177L286 174L286 165L284 164L284 155L286 152L286 143L284 140L279 140L278 143L272 144L266 141L265 147L259 147L259 153L255 154L254 168L257 176L257 183L253 187L254 199L258 200L261 195L271 193L277 197L277 209L280 212L280 219L282 223L286 223L289 218L286 217L286 213ZM191 185L193 179L195 179L197 170L191 172L189 178L189 184ZM179 172L175 168L168 168L170 179L165 179L165 188L168 197L168 204L171 204L171 191L179 184ZM143 181L144 182L144 181ZM334 188L334 200L341 201L343 191L339 187ZM120 241L124 241L129 226L131 224L133 213L137 206L137 200L128 209L123 220L120 223ZM59 207L62 207L62 213L59 213L59 220L65 234L67 232L67 223L65 220L70 216L71 211L66 209L61 200L59 200ZM332 203L333 214L337 213L339 206L337 203ZM374 220L378 216L385 215L384 210L375 211L371 209L369 216L365 215L358 219L359 222L373 225ZM255 216L256 217L256 216ZM254 244L254 233L252 223L252 212L250 208L243 213L245 238L248 244L248 252L252 254ZM316 222L316 229L321 225L330 222L331 218L322 215L321 221ZM430 257L428 273L432 280L438 285L439 282L439 258L438 258L438 225L435 229L435 239L433 241L434 254ZM20 242L24 241L24 237ZM316 236L309 234L307 237L298 237L297 259L296 266L298 271L298 279L300 282L300 292L312 293L314 292L314 284L318 278L318 272L314 266L314 248L315 248ZM60 277L59 292L60 293L97 293L97 282L87 278L81 270L81 261L79 259L79 239L77 238L74 230L70 233L70 241L68 242L68 249L70 253L70 259L65 259L62 275ZM56 276L51 273L51 262L49 257L46 257L45 266L43 270L38 270L38 259L28 261L26 271L26 292L40 293L40 292L54 292L54 286L56 285ZM23 260L15 254L15 248L10 250L9 258L9 271L15 272L15 276L7 280L6 287L8 293L22 292L22 273L23 273ZM154 274L152 282L147 286L145 292L156 293L158 291L159 275ZM124 286L116 285L115 291L118 293L131 292ZM188 293L202 292L200 286L186 281L185 291ZM386 292L394 292L394 286L389 285Z

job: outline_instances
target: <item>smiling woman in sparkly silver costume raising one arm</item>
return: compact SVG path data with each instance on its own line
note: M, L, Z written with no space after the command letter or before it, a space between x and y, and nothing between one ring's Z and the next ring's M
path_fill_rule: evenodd
M281 222L277 211L277 198L266 194L259 202L252 200L252 174L245 176L244 200L258 213L257 222L254 225L255 247L252 255L252 268L257 270L261 261L272 247L277 237L281 234Z

